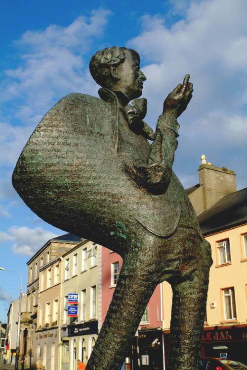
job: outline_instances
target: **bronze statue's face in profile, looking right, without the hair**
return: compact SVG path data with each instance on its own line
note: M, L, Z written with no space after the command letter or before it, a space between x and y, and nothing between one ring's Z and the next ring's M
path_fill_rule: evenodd
M147 78L140 70L138 57L130 50L124 51L126 58L118 66L117 90L121 91L132 100L142 95L143 81Z

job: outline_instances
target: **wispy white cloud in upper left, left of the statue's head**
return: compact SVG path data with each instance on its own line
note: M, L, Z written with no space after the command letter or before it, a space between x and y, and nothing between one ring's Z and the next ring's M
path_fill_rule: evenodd
M73 91L96 93L83 56L92 40L102 36L111 12L99 9L79 16L67 27L50 25L43 31L27 31L16 42L22 65L6 71L0 99L19 100L15 117L37 124L58 99Z

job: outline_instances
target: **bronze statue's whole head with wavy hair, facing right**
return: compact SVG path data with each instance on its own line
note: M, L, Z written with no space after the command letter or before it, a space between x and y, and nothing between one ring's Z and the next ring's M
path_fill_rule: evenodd
M135 50L106 48L92 56L89 68L100 86L121 91L129 100L141 96L146 77L140 70L140 56Z

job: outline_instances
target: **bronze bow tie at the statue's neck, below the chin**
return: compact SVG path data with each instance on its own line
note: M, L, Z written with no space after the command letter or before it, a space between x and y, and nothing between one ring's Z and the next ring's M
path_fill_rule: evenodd
M135 99L132 101L132 105L124 106L123 111L129 128L133 132L141 134L147 139L154 140L153 130L143 121L147 114L147 99Z

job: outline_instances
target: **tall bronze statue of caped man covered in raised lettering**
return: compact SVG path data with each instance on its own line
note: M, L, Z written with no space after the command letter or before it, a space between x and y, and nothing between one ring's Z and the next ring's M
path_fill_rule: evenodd
M157 284L173 290L169 370L198 369L210 246L172 172L177 117L192 98L189 75L165 99L155 134L143 121L145 75L134 50L90 61L101 99L71 94L41 120L13 185L52 225L119 253L123 268L87 370L119 370ZM150 145L148 140L152 140Z

